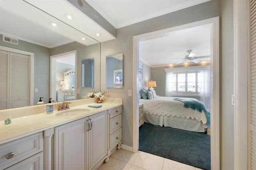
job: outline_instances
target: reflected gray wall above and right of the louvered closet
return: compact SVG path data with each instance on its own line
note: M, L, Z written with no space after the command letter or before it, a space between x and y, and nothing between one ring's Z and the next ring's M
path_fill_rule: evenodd
M2 40L1 34L0 39ZM34 93L34 104L39 102L39 97L44 97L42 101L48 103L50 96L50 49L22 40L19 40L18 45L3 41L0 41L0 45L34 53L34 88L38 88L38 93Z

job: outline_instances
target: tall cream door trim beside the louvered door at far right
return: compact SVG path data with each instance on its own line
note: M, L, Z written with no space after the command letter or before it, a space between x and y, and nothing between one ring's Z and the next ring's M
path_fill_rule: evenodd
M234 0L234 170L250 169L249 1ZM248 75L248 76L245 76Z

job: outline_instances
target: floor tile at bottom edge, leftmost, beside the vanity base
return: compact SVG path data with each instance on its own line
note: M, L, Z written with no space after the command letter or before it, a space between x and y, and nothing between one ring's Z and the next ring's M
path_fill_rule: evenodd
M110 157L109 162L102 164L98 170L129 170L131 166L132 164Z

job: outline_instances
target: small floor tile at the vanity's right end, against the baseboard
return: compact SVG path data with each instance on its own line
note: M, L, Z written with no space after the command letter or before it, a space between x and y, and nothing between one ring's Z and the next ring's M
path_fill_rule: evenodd
M136 159L136 157L138 156L139 152L140 151L138 151L137 153L133 153L128 150L120 149L120 150L116 150L111 156L113 158L132 164Z

